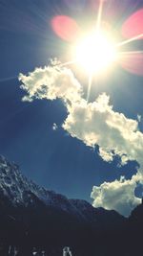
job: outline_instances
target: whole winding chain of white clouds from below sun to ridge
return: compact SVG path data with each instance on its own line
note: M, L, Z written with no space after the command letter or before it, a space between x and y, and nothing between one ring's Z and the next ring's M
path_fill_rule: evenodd
M99 154L105 161L112 161L114 155L119 155L121 164L128 160L136 160L140 164L137 175L133 175L131 180L121 178L92 188L94 206L129 215L140 203L140 198L134 196L136 183L143 183L143 133L139 131L138 122L114 111L105 93L88 103L82 97L81 84L72 70L56 62L36 68L28 76L20 74L19 80L27 91L23 101L60 98L68 111L63 128L89 147L98 145Z

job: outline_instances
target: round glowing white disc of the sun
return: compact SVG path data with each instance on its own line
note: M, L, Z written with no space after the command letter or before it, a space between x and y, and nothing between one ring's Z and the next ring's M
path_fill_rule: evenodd
M88 74L107 70L117 59L112 38L102 31L93 32L82 38L74 47L74 56Z

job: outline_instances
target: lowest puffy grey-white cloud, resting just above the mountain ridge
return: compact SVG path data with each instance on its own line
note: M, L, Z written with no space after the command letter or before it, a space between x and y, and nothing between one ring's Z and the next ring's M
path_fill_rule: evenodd
M141 203L141 199L134 196L135 179L135 176L131 180L121 176L120 180L104 182L99 187L93 186L93 206L114 209L126 217L129 216L133 208Z

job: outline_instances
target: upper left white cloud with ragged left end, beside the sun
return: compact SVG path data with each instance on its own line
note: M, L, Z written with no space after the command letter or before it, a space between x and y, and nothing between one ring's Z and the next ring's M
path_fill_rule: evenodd
M72 71L56 62L51 66L36 68L28 76L19 74L19 81L23 82L21 88L28 92L23 101L31 101L33 98L61 98L73 102L80 97L81 85Z

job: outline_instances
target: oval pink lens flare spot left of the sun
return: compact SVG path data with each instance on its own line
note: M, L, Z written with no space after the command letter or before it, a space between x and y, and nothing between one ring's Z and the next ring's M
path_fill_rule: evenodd
M74 19L58 15L51 19L51 28L60 38L72 42L80 35L80 29Z

